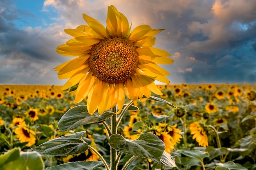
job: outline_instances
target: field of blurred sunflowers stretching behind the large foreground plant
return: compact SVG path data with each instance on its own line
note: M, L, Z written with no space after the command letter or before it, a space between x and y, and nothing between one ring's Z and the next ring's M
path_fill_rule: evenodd
M130 140L142 133L157 135L176 166L168 168L137 157L127 169L256 169L256 85L157 87L164 95L152 94L148 99L140 99L134 109L125 112L117 133ZM87 143L104 158L110 157L108 131L102 123L67 131L58 129L61 117L78 105L86 105L86 99L74 104L74 92L54 85L0 85L0 92L1 170L23 170L24 164L31 170L51 169L67 162L100 160L91 149L69 156L51 156L32 150L44 142L82 131L86 131ZM154 96L162 100L154 100ZM127 98L125 101L129 102ZM118 169L130 157L123 154ZM92 169L103 169L101 166Z

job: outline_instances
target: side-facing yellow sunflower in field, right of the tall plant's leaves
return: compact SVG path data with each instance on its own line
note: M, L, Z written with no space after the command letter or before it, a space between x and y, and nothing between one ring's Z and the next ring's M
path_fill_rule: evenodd
M193 135L192 139L195 139L199 146L208 146L207 129L198 122L193 122L189 125L189 130L191 131L191 135Z

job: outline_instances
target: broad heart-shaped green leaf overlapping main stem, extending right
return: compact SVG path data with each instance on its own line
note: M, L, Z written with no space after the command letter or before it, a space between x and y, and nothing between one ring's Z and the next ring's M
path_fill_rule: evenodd
M165 148L164 142L153 133L143 133L135 140L114 134L110 136L109 144L122 153L149 158L157 163L160 163Z

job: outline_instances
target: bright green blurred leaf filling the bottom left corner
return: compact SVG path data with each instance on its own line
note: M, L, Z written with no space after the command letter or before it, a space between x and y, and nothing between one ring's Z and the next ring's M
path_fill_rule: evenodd
M35 151L20 152L19 148L0 155L0 170L44 170L41 155Z

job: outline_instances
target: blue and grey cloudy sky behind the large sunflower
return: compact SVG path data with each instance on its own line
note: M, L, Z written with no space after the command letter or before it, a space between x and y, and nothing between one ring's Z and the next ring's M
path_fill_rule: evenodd
M106 26L111 4L132 28L166 28L154 47L175 60L162 65L171 84L256 83L256 0L0 0L0 84L63 85L63 30L82 13Z

